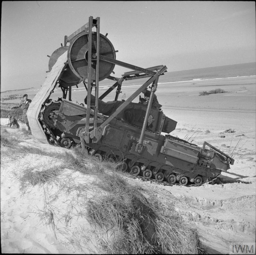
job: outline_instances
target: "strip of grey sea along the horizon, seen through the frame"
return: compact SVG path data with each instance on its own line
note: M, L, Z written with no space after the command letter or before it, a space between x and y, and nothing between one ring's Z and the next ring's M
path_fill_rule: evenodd
M161 86L161 84L167 84L167 83L173 83L173 82L198 81L198 80L203 81L203 80L221 79L221 78L228 78L228 77L249 77L249 76L255 76L255 75L256 75L256 62L227 65L227 66L214 66L214 67L190 69L190 70L175 71L175 72L168 72L168 69L167 69L167 72L165 72L164 75L161 75L159 77L158 86ZM129 87L139 87L147 80L148 78L140 78L140 79L124 81L122 84L122 88L128 89ZM100 81L99 95L103 94L114 83L115 81L108 80L108 79ZM13 95L13 94L21 95L21 94L27 93L28 97L33 99L33 97L40 90L40 88L41 87L33 87L33 88L27 88L27 89L3 91L1 92L1 98L5 96ZM110 97L114 97L115 91L116 89L114 89L106 97L106 99L108 99L107 101L114 100L114 98L110 99ZM83 83L78 84L78 88L76 88L76 86L73 86L71 93L72 93L72 101L79 104L84 102L84 97L86 97L86 94L87 94ZM60 90L60 88L56 87L52 96L54 96L53 99L55 100L58 97L62 97L62 91Z

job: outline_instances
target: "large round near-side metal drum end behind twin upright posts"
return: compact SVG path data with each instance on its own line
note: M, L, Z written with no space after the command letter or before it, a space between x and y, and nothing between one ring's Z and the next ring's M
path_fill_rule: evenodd
M69 44L68 47L68 65L70 69L78 78L86 79L88 78L88 32L83 32L76 35ZM92 81L96 79L96 41L97 33L92 32ZM108 58L116 59L116 52L112 43L104 35L100 34L100 55L104 55ZM113 71L115 64L99 60L99 81L107 78Z

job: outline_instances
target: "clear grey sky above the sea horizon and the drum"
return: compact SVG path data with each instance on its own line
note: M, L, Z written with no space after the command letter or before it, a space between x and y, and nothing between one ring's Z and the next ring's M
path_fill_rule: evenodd
M256 61L254 1L2 1L1 91L40 87L47 55L90 16L116 59L142 68ZM127 71L114 68L116 77Z

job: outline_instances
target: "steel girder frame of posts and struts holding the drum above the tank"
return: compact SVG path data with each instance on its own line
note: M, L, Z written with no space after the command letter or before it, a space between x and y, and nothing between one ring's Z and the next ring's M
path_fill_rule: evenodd
M92 56L92 27L96 27L96 53L93 53ZM145 134L147 122L148 122L148 116L150 113L152 100L154 93L157 89L157 82L160 75L164 74L166 72L167 67L166 66L153 66L149 68L141 68L139 66L134 66L113 58L109 58L103 55L100 55L100 18L97 17L96 19L93 19L92 16L89 17L89 22L86 23L84 26L80 27L78 30L76 30L74 33L72 33L70 36L64 37L64 46L67 45L68 42L71 42L72 38L74 38L76 35L82 32L88 32L88 76L87 79L83 79L83 83L87 82L87 110L86 110L86 123L85 128L81 128L77 131L80 136L81 144L84 146L84 141L86 143L97 143L99 142L101 136L103 135L104 128L108 125L108 123L113 120L122 110L125 109L125 107L132 102L132 100L137 97L144 89L146 89L151 83L151 94L148 101L148 106L145 114L145 119L143 122L143 127L140 134L140 139L138 141L138 144L136 146L135 151L140 153L142 151L142 143L143 143L143 137ZM116 51L117 52L117 51ZM106 61L118 66L123 66L129 69L132 69L131 72L126 72L122 75L121 78L116 78L112 76L108 76L107 79L116 81L114 85L112 85L103 95L99 97L99 61ZM93 84L92 81L92 63L96 62L96 70L95 70L95 83ZM108 117L107 120L105 120L99 127L97 127L97 113L98 113L98 99L103 99L105 96L107 96L114 88L116 89L116 97L115 101L117 101L119 93L121 93L121 87L122 82L124 80L131 80L131 79L139 79L139 78L146 78L149 77L148 81L146 81L139 89L137 89L132 96L130 96L122 105L120 105L116 111ZM86 85L85 85L86 87ZM95 89L95 105L91 105L91 92L92 88ZM93 128L90 126L90 113L91 113L91 107L94 108L94 121L93 121ZM91 129L91 131L90 131Z

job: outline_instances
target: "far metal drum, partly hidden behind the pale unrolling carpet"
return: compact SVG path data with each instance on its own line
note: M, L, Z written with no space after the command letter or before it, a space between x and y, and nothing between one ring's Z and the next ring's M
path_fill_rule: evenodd
M52 70L52 66L57 62L58 58L68 50L68 46L63 46L54 50L49 59L49 71ZM60 77L60 85L62 87L75 86L79 83L80 79L72 72L70 67L67 65L65 71Z

